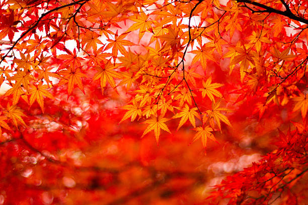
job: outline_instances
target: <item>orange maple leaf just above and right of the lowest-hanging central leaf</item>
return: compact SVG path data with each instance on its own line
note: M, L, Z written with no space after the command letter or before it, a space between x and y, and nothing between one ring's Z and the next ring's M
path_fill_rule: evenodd
M229 109L226 108L219 108L220 106L220 101L221 99L219 99L216 104L214 104L214 102L212 102L212 110L208 110L206 111L206 113L208 114L209 118L213 118L215 120L215 122L217 123L217 126L221 132L221 126L220 126L220 121L224 122L225 124L231 126L229 120L227 119L227 117L225 117L224 115L222 115L220 112L232 112Z

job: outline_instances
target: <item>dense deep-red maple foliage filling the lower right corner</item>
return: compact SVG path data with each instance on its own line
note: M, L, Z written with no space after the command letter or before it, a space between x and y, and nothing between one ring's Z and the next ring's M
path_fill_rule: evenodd
M298 181L308 170L307 130L305 123L294 123L296 130L285 135L279 130L279 147L268 153L259 163L228 176L217 185L211 197L230 198L228 204L272 204L283 198L285 204L305 203L306 177Z

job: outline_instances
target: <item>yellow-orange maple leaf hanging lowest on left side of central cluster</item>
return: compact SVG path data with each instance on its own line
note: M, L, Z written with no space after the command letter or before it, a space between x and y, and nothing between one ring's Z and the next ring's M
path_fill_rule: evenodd
M157 144L159 143L160 135L161 135L161 129L165 130L166 132L170 132L167 125L165 124L169 119L160 117L152 116L151 119L144 121L143 123L149 124L147 128L144 130L141 138L146 135L148 132L154 130L155 138Z

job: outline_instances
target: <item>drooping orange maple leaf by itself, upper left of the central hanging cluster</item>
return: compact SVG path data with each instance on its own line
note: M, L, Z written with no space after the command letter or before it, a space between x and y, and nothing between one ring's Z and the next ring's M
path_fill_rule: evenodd
M110 61L107 64L101 64L100 67L95 67L98 72L94 75L93 80L100 79L102 93L104 93L107 82L112 88L115 88L116 84L113 78L122 78L121 74L114 70L115 68Z

